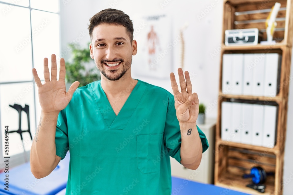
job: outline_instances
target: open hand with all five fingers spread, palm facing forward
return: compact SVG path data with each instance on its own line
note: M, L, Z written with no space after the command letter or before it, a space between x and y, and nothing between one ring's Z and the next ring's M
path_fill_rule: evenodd
M44 77L45 83L42 84L35 68L32 69L34 80L38 86L39 101L42 112L59 113L63 110L72 98L73 93L79 86L79 82L75 81L71 84L68 92L65 87L65 61L60 59L59 80L57 81L57 63L56 56L51 56L51 80L48 67L48 58L44 58Z

